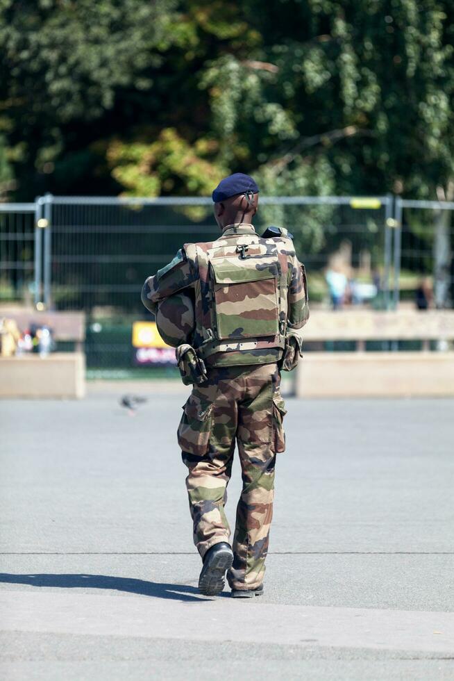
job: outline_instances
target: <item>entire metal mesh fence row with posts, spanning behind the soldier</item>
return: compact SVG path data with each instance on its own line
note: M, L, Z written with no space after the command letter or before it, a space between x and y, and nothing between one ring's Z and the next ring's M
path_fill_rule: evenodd
M294 234L312 304L330 305L326 274L340 266L351 290L376 290L377 295L353 296L352 304L389 308L398 302L400 288L407 300L414 295L412 281L434 277L440 261L434 250L434 243L440 247L436 211L415 203L421 204L398 199L394 214L392 197L261 197L255 227L262 233L277 224ZM399 210L403 228L392 229ZM446 250L452 227L449 223L446 232L444 224ZM0 204L1 295L31 302L34 289L37 304L85 311L89 368L131 370L131 323L150 319L140 302L144 279L183 243L217 236L210 199L47 195L36 204Z

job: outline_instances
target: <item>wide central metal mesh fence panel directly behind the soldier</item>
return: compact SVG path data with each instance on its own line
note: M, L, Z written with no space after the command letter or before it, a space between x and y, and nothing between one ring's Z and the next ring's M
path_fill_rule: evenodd
M45 303L87 313L87 366L131 368L131 323L149 319L140 302L146 277L187 242L213 240L219 229L210 199L107 199L45 197ZM388 197L369 204L350 197L263 197L258 233L270 224L294 234L310 272L312 300L328 304L325 270L335 259L351 266L362 284L388 292Z

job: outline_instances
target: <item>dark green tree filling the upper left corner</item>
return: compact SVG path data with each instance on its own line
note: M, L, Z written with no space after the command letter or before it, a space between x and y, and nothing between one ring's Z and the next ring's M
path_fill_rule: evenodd
M17 196L87 190L96 140L123 131L172 40L175 0L1 0L0 131ZM122 105L122 106L121 106ZM108 173L106 173L108 176ZM102 169L101 169L102 182Z

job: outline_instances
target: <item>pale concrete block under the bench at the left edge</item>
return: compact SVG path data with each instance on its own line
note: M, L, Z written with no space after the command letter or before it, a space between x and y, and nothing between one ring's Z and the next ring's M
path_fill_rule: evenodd
M85 397L85 354L1 357L0 397Z

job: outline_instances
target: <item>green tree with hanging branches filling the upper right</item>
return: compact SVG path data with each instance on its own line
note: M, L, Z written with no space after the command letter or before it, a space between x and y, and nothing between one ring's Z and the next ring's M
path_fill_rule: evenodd
M281 0L263 12L251 1L244 12L260 44L212 60L202 81L231 165L258 168L276 193L435 197L448 183L449 3Z

